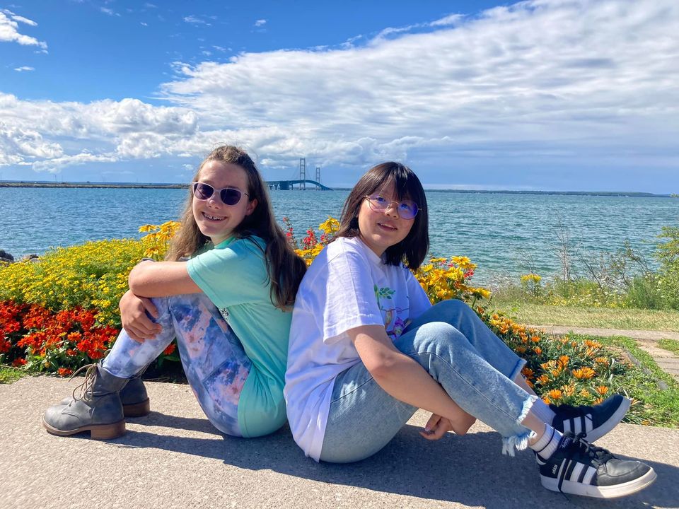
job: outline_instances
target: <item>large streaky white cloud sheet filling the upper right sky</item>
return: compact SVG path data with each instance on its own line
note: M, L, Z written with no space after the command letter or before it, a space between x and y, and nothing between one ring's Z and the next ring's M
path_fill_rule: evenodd
M525 1L424 32L385 29L362 47L178 65L163 93L197 112L203 129L282 128L286 142L264 145L272 159L348 151L368 162L477 144L603 152L676 133L679 63L668 55L679 52L678 23L671 0Z

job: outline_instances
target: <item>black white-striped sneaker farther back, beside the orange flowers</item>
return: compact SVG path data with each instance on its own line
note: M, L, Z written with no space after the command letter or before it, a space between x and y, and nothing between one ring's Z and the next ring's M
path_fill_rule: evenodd
M629 399L615 394L595 406L571 406L550 404L556 416L552 428L562 433L571 431L574 435L585 435L588 442L594 442L611 431L629 410Z

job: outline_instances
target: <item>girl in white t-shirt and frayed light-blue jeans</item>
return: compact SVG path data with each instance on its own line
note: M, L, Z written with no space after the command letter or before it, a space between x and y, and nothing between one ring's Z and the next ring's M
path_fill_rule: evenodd
M629 408L547 406L525 364L460 300L434 306L410 269L429 249L424 189L399 163L371 168L349 194L333 242L306 272L293 312L285 397L294 439L316 461L355 462L381 450L418 408L422 436L465 434L475 419L530 447L554 491L613 497L638 491L653 469L593 441Z

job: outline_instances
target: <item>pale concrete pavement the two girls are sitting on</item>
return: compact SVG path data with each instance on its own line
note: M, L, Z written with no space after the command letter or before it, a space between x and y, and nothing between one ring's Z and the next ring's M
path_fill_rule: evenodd
M23 378L0 385L0 507L91 508L677 508L679 430L620 424L598 441L649 463L655 484L617 501L552 493L533 455L500 455L500 437L476 424L438 442L418 435L417 412L377 455L356 464L317 464L289 430L228 438L205 419L187 385L147 382L149 416L100 442L48 435L40 414L75 380ZM361 423L356 423L361 433Z

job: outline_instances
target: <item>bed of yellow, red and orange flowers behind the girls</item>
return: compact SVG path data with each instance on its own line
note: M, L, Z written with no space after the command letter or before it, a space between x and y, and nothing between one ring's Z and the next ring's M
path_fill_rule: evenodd
M339 228L337 220L328 218L319 226L320 236L308 230L298 241L284 222L289 240L308 264ZM37 263L1 267L0 363L65 376L102 358L120 331L117 302L127 290L129 271L144 256L161 259L177 228L175 222L146 225L141 240L86 242L51 250ZM467 257L432 258L415 276L432 303L464 300L526 358L523 375L545 402L596 404L614 392L627 392L632 366L598 341L550 337L479 305L490 291L470 283L475 268ZM156 368L166 360L178 361L174 344ZM629 419L652 423L641 402L634 402Z

